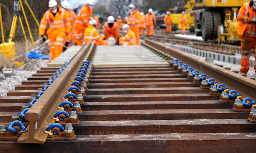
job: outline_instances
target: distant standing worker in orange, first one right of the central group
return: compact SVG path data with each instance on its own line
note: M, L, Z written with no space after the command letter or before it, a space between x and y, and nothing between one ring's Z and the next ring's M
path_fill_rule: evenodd
M152 8L148 9L148 13L145 15L147 35L154 35L154 27L156 26L156 18L153 14Z

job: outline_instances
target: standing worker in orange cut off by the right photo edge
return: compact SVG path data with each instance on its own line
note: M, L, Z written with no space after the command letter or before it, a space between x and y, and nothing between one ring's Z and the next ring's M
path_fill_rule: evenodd
M254 54L256 59L256 0L243 3L238 11L237 34L242 36L241 40L241 66L240 74L247 76L250 69L250 56ZM253 51L252 51L253 49ZM256 72L256 65L254 66Z

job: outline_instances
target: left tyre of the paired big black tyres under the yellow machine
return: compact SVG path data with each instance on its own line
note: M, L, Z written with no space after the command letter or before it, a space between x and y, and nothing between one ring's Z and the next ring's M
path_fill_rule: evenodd
M203 40L207 40L208 38L212 38L213 32L213 17L212 12L205 11L202 15L202 37Z

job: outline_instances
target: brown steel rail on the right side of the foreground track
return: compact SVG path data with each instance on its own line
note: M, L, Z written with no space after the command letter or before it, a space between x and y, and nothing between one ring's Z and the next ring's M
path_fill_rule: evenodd
M190 56L187 53L179 51L159 44L150 39L145 39L146 44L149 44L180 61L185 62L201 73L206 73L208 77L214 78L217 82L225 84L229 89L236 89L243 97L250 97L256 99L256 81L243 77L240 74L229 71L223 67L211 64L199 58Z

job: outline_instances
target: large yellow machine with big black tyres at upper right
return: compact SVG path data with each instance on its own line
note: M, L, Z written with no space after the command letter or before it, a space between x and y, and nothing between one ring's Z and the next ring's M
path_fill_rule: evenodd
M197 0L195 7L195 34L204 40L214 39L218 43L241 41L237 34L237 13L242 3L250 0Z

